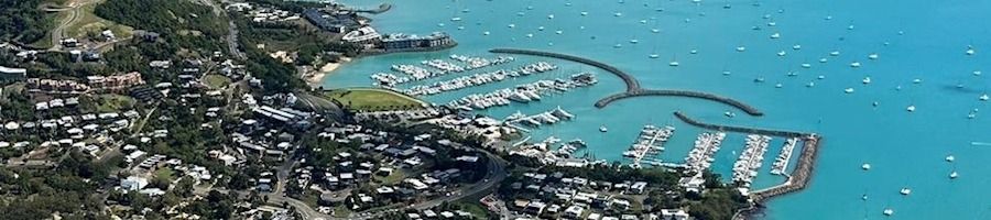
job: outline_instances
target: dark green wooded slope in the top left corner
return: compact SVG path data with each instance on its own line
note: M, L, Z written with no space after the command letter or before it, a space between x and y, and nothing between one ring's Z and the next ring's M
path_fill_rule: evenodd
M52 22L40 10L41 0L0 0L0 41L32 43L45 37Z

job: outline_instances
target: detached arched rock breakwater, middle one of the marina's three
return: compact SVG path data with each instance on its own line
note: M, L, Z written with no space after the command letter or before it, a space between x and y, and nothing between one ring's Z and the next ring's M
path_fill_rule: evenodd
M731 106L733 108L740 109L743 112L747 112L750 116L761 117L764 116L761 110L758 110L750 105L743 103L736 99L722 97L715 94L701 92L701 91L689 91L689 90L655 90L655 89L641 89L635 91L627 91L621 94L614 94L608 96L606 98L599 99L596 101L597 108L606 108L609 103L613 101L618 101L620 99L633 98L633 97L644 97L644 96L673 96L673 97L688 97L688 98L698 98L698 99L707 99L717 102L722 102L725 105Z

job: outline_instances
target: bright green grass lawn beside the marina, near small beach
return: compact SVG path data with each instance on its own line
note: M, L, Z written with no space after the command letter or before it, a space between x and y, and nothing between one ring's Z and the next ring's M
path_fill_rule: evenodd
M368 111L418 109L424 103L418 99L382 89L337 89L325 91L324 96L337 100L345 108Z

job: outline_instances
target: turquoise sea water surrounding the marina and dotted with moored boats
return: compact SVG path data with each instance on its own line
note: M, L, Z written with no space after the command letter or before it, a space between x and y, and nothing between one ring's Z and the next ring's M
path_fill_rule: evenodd
M345 3L374 7L379 1L346 0ZM570 6L566 6L569 2ZM469 92L491 91L537 78L566 77L581 70L599 72L600 84L569 94L545 98L538 103L512 105L481 111L505 117L516 110L535 113L557 106L578 116L575 121L544 127L535 138L555 135L564 140L581 138L598 158L623 161L620 153L647 123L671 123L677 128L661 158L682 162L696 135L703 131L672 117L682 110L706 122L814 131L826 139L813 183L806 190L772 200L764 219L883 219L885 207L892 219L991 219L991 168L982 163L991 146L991 111L978 97L989 89L991 48L984 21L991 1L977 0L809 0L809 1L644 1L625 0L399 0L388 13L375 15L382 32L426 34L446 31L460 42L450 51L394 54L362 58L345 65L326 78L326 87L369 86L369 75L389 72L392 64L417 64L446 58L449 54L493 56L491 47L523 47L568 53L612 64L636 76L646 88L691 89L720 94L748 102L766 116L751 118L731 108L705 100L684 98L636 98L596 109L592 103L622 91L621 81L592 67L538 57L521 57L504 67L532 61L548 61L560 70L537 77L508 80L443 96L425 97L446 103ZM731 9L723 9L730 4ZM532 9L527 9L532 7ZM663 11L656 9L663 8ZM460 12L469 9L470 12ZM580 12L588 15L582 16ZM521 13L522 15L518 15ZM616 16L614 13L622 13ZM704 15L701 14L704 13ZM548 19L554 14L554 19ZM764 19L764 16L767 19ZM460 16L462 21L450 21ZM825 18L831 16L831 20ZM686 19L690 20L686 22ZM645 20L646 23L641 23ZM769 26L769 22L776 25ZM443 26L438 23L444 23ZM515 24L515 28L508 28ZM852 30L848 26L853 25ZM464 30L458 30L464 26ZM544 26L544 31L538 31ZM584 29L581 29L584 26ZM760 26L754 31L752 26ZM661 33L652 33L660 29ZM555 34L560 30L563 34ZM482 32L491 32L483 35ZM899 34L902 32L903 34ZM780 38L771 38L780 33ZM533 34L527 37L526 34ZM631 44L631 38L639 40ZM886 44L885 44L886 43ZM553 45L552 45L553 44ZM622 44L614 48L614 44ZM801 50L793 45L801 44ZM976 55L967 56L967 45ZM745 46L745 52L737 52ZM689 51L696 50L697 54ZM785 56L776 53L785 51ZM829 56L840 51L839 56ZM661 58L651 59L656 53ZM868 55L876 53L878 59ZM821 57L827 63L819 63ZM672 59L678 67L667 65ZM862 67L851 68L860 62ZM801 64L808 63L810 68ZM732 74L723 76L729 70ZM787 76L788 72L797 76ZM825 79L817 79L823 75ZM870 85L861 84L871 77ZM763 77L765 82L755 84ZM449 78L449 77L448 77ZM912 80L919 78L921 84ZM814 87L806 87L814 81ZM783 88L775 88L782 84ZM962 89L956 88L958 84ZM895 89L901 86L902 89ZM843 89L856 92L845 94ZM875 108L872 102L879 102ZM906 111L914 105L915 112ZM981 109L967 119L971 109ZM987 109L985 109L987 108ZM736 111L736 110L731 110ZM598 132L607 125L608 133ZM714 169L725 177L745 134L730 134L717 154ZM755 187L783 179L767 174L783 140L774 140L765 155ZM796 153L797 153L796 148ZM581 153L579 153L581 154ZM955 163L944 157L954 154ZM871 163L869 172L860 169ZM947 175L956 169L960 178ZM899 195L908 186L911 196ZM861 195L869 199L863 201Z

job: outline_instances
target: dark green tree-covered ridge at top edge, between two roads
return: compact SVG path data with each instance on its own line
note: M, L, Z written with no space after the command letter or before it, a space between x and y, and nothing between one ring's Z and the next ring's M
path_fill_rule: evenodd
M227 34L227 22L208 6L182 0L108 0L96 14L129 26L159 32L200 32L208 37ZM195 34L194 34L195 35Z

